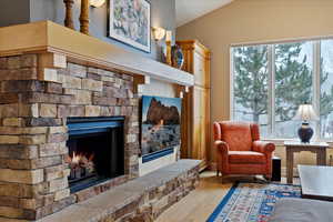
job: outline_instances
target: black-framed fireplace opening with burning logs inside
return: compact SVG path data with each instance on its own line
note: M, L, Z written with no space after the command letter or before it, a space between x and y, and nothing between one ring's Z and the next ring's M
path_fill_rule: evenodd
M124 174L123 118L69 118L71 192Z

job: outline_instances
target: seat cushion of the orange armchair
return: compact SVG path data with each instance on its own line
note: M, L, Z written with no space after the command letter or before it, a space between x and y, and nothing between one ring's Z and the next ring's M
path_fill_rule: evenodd
M266 157L264 153L254 151L229 151L229 162L231 164L265 164Z

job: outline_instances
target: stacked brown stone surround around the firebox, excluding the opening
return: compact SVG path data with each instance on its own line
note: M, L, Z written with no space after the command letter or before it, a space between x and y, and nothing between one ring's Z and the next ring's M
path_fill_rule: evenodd
M41 219L138 176L133 77L67 63L41 81L40 69L38 54L0 58L0 221ZM70 193L69 117L125 117L125 175Z

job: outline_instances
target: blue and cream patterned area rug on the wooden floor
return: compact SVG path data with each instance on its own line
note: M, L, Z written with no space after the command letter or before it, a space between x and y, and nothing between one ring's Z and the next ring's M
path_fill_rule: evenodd
M301 186L238 183L233 185L208 222L266 222L281 198L300 198Z

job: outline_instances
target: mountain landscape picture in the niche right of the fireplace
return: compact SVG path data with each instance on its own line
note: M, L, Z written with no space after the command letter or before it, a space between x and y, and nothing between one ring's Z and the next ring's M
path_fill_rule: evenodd
M142 97L142 155L180 144L181 107L179 98Z

